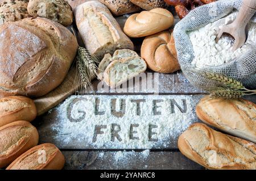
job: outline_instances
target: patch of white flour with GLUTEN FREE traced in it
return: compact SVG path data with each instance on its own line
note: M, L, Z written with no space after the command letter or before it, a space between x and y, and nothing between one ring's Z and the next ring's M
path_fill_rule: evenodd
M57 111L55 138L82 148L168 147L195 118L190 96L71 96Z

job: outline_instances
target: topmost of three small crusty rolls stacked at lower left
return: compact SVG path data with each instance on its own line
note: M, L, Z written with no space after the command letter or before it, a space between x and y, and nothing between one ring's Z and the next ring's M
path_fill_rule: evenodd
M32 121L36 118L34 101L24 96L0 99L0 127L14 121Z

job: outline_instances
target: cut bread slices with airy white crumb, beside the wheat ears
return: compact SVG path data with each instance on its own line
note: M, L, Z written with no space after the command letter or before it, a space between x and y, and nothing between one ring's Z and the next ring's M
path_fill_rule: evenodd
M98 78L114 88L136 77L146 69L146 62L133 50L116 50L113 56L106 54L101 61Z

